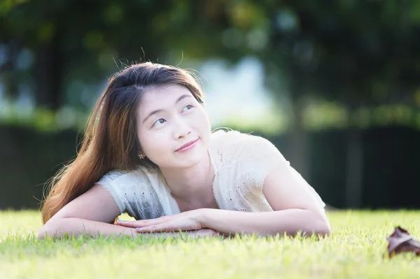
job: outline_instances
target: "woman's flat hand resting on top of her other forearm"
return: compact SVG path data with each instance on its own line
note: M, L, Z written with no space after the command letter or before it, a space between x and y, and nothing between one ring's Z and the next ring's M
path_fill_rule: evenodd
M195 231L203 229L202 220L205 212L204 210L204 208L190 210L175 215L167 215L149 220L117 220L117 224L119 226L136 228L138 233L162 231Z

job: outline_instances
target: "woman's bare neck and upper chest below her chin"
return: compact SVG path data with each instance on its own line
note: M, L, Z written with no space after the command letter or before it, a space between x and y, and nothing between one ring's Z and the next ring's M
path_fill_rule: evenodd
M160 169L172 195L187 203L206 200L213 193L214 169L207 157L188 169Z

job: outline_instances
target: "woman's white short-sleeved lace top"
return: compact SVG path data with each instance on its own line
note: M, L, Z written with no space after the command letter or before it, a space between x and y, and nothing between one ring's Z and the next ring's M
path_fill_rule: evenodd
M213 192L218 207L246 212L272 211L262 193L267 173L275 165L283 166L304 187L320 208L325 206L315 190L300 176L267 139L239 131L216 131L209 148L215 178ZM162 173L139 166L135 171L111 171L99 181L115 199L120 213L136 220L180 213Z

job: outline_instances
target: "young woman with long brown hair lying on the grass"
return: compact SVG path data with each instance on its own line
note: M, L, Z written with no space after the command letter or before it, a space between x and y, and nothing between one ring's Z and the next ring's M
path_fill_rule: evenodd
M111 78L51 184L40 238L330 233L325 203L272 143L212 133L195 77L150 62ZM136 221L113 224L123 212Z

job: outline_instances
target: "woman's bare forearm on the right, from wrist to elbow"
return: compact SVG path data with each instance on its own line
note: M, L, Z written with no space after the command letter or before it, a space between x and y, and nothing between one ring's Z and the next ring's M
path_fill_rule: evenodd
M225 235L295 235L297 231L305 234L330 234L330 224L325 215L297 208L258 213L206 209L202 217L202 227Z

